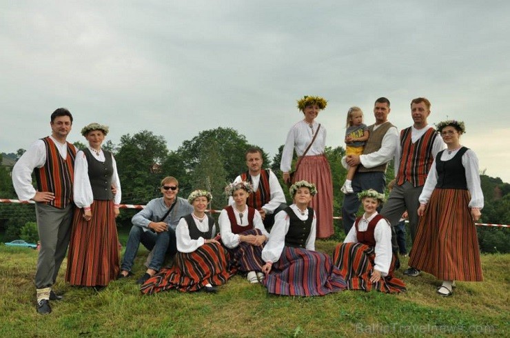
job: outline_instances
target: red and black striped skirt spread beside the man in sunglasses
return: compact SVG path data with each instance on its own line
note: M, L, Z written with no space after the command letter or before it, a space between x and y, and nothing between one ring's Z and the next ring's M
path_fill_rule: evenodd
M218 243L205 243L194 252L177 252L174 266L147 279L141 292L145 295L170 289L192 292L207 284L225 284L234 275L228 268L228 259L228 252Z

